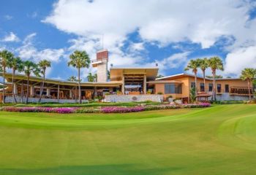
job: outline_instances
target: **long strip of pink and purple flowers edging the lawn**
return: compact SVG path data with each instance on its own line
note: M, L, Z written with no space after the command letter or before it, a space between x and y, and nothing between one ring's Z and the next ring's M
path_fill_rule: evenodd
M209 107L209 103L200 104L158 104L146 106L102 106L102 107L15 107L6 106L1 108L6 112L52 112L59 114L69 113L125 113L125 112L143 112L150 110L162 109L179 109L179 108L204 108Z

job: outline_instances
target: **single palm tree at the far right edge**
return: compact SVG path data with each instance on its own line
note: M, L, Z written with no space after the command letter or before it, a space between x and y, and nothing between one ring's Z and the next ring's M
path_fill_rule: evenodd
M255 79L256 70L252 68L245 68L241 72L241 79L247 81L248 84L248 92L249 92L249 101L251 101L251 88L252 88L252 80Z

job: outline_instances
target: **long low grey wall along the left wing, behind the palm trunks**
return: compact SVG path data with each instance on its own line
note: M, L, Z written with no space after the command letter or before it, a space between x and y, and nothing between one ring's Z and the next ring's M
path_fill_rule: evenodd
M21 103L20 96L16 96L16 100L18 103ZM39 98L29 98L29 103L37 103ZM23 97L23 102L26 101L26 97ZM6 96L5 97L6 103L12 103L12 96ZM87 103L88 100L82 100L82 103ZM78 103L78 100L70 100L70 99L52 99L52 98L41 98L41 103L60 103L60 104L75 104Z

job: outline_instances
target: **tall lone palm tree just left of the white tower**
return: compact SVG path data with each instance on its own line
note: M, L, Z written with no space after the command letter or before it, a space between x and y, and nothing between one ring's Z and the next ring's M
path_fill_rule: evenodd
M82 103L81 98L81 88L80 88L80 69L89 68L91 60L86 51L75 50L71 55L69 55L70 61L67 63L68 66L73 66L78 69L78 92L79 92L79 104Z

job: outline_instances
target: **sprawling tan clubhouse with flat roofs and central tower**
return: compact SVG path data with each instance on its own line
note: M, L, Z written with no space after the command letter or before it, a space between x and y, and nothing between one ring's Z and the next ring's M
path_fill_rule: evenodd
M97 68L97 82L81 82L83 102L102 99L106 102L126 101L165 101L172 96L182 103L189 103L189 92L195 87L195 77L191 74L174 74L157 78L159 68L115 68L111 65L108 78L108 50L97 52L97 58L91 61ZM2 76L2 73L0 73ZM12 74L6 73L7 86L4 89L6 102L12 102ZM17 100L25 101L26 76L15 74L14 93ZM29 102L37 102L42 77L30 77ZM213 89L212 79L197 77L197 99L208 101ZM239 78L216 79L217 99L247 100L249 92L247 82ZM252 89L250 90L252 94ZM0 91L0 101L3 99ZM78 101L78 82L45 79L42 102L75 103Z

